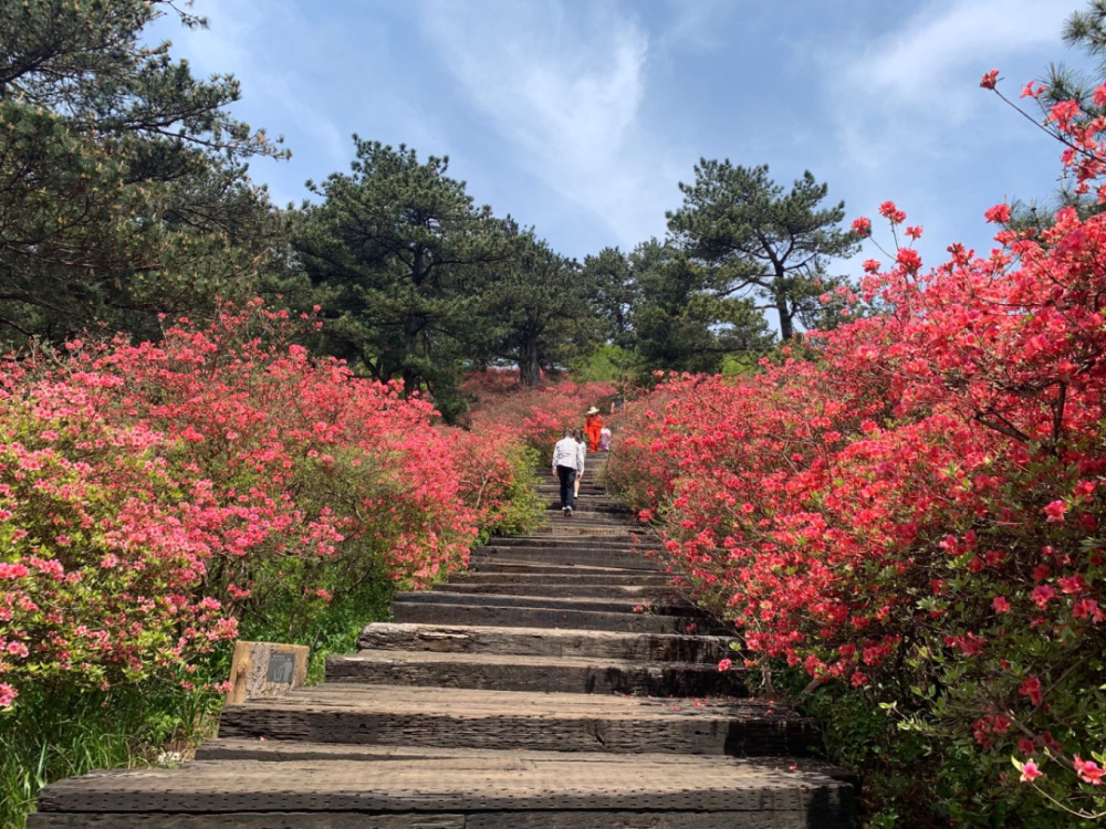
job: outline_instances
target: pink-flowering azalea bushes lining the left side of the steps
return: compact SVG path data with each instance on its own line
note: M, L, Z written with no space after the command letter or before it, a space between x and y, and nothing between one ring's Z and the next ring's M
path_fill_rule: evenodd
M156 344L6 360L6 825L35 785L104 762L54 763L58 744L117 743L117 762L187 731L223 688L226 642L349 647L392 590L428 586L467 566L481 534L532 521L515 502L531 482L521 444L445 427L429 401L311 359L298 339L315 325L258 301L181 319ZM132 726L59 732L90 728L62 712L96 705L131 711L118 718Z

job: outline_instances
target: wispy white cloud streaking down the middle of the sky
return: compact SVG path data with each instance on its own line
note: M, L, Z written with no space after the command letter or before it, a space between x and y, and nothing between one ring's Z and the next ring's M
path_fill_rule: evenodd
M649 41L611 4L420 6L424 33L518 164L624 244L664 230L675 182L640 120Z

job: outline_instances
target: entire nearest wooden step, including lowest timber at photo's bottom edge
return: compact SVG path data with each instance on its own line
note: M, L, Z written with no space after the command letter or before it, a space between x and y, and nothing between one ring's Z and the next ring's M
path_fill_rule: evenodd
M263 755L268 747L255 752ZM293 749L294 751L294 749ZM348 749L344 753L348 754ZM314 751L317 757L320 752ZM789 759L526 752L202 759L48 786L31 829L846 829L854 788ZM366 759L368 762L366 762Z

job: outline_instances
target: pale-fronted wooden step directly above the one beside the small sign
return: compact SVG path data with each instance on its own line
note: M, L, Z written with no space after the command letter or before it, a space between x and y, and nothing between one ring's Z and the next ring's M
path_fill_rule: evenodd
M717 663L732 657L732 637L549 630L456 625L374 622L361 632L363 650L511 653L648 662Z

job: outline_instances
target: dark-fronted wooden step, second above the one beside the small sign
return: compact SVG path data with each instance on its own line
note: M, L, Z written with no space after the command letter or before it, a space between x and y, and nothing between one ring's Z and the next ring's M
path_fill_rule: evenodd
M564 628L573 630L622 630L637 633L687 633L701 631L700 619L682 616L556 610L532 607L488 607L481 605L431 605L398 602L393 606L397 622L417 625L477 625L503 628Z

